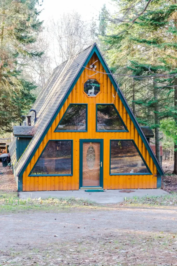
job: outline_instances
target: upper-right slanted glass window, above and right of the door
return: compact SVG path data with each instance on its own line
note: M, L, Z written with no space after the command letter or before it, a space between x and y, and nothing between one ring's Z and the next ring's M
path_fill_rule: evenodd
M97 105L97 131L128 131L113 104Z

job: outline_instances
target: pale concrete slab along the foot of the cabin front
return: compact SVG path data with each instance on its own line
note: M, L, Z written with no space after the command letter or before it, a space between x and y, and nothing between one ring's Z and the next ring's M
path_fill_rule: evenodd
M126 189L126 191L129 189ZM131 189L134 192L121 192L123 190L109 189L104 192L85 192L85 190L62 190L62 191L32 191L32 192L19 192L20 199L26 199L28 197L34 198L60 198L60 197L75 197L75 198L87 198L97 203L118 203L124 200L125 197L144 197L144 196L162 196L168 194L162 189Z

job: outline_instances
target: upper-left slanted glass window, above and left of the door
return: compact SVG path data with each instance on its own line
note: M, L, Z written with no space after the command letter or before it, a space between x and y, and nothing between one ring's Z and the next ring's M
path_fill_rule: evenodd
M86 104L70 104L56 130L86 131L86 113Z

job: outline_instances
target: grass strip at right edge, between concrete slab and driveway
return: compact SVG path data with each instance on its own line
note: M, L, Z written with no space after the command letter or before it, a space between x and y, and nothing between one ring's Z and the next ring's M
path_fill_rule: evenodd
M172 192L164 196L145 196L133 197L124 199L123 203L133 205L162 205L162 206L177 206L177 192Z

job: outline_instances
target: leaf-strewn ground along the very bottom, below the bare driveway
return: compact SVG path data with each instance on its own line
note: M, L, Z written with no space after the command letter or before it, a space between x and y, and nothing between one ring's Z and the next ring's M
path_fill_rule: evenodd
M104 234L75 242L14 246L0 251L1 265L176 265L176 234ZM111 237L111 240L106 240Z

